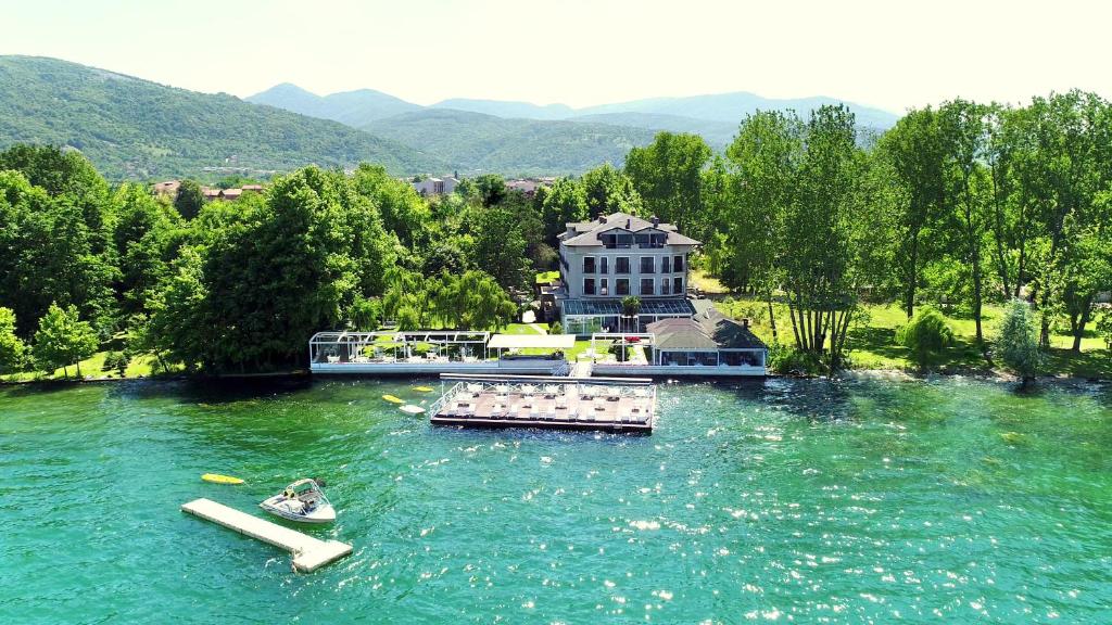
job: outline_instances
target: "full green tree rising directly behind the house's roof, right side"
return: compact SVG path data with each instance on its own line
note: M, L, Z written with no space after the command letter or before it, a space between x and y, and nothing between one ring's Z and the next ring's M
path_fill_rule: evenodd
M644 148L633 148L625 173L641 196L645 211L695 238L711 229L703 205L703 168L711 148L698 135L658 132Z

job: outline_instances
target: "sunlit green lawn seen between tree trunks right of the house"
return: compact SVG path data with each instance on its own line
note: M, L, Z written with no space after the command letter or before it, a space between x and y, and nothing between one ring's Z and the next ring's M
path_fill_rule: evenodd
M732 317L752 319L753 331L765 343L772 341L768 307L765 302L739 298L728 304L719 301L716 306ZM793 344L795 339L792 336L787 306L775 304L773 310L781 343ZM853 368L915 370L916 366L909 359L907 349L896 344L896 331L907 323L904 311L891 305L866 306L865 311L867 316L850 328L848 351ZM1003 306L984 307L982 328L990 344L1000 329L1003 316ZM942 370L987 370L987 363L974 340L976 326L973 318L947 316L946 321L956 335L957 345L950 349L946 358L940 364ZM1082 378L1112 377L1112 353L1106 349L1102 339L1089 333L1082 338L1080 354L1070 351L1072 344L1073 337L1069 334L1052 333L1051 349L1046 355L1044 370L1052 375Z

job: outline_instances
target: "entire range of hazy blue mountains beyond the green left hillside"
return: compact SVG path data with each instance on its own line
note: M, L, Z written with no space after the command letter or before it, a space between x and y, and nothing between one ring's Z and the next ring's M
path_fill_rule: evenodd
M737 91L582 109L466 98L420 107L369 89L320 97L288 83L248 101L342 121L435 156L459 171L507 175L577 173L606 161L616 165L629 147L647 143L662 130L699 135L721 150L733 141L745 116L757 110L794 109L806 116L823 105L840 103L833 98L773 99ZM880 109L846 106L866 136L898 119Z

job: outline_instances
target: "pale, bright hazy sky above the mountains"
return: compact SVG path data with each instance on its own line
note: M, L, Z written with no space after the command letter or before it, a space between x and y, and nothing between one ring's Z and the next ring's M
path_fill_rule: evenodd
M418 103L753 91L898 112L957 96L1112 96L1112 2L1096 0L0 0L0 53L241 97L278 82Z

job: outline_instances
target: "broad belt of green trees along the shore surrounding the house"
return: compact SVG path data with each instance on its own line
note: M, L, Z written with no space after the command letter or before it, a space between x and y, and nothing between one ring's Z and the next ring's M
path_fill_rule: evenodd
M76 152L16 146L0 153L0 368L109 349L163 370L284 370L325 328L497 329L556 266L564 224L613 211L704 241L694 264L767 310L774 365L853 366L847 338L888 304L933 324L940 346L969 319L991 363L1009 350L984 311L1020 301L1042 349L1065 333L1080 351L1112 337L1110 150L1112 107L1080 91L949 101L880 136L840 106L761 111L722 152L661 132L623 168L533 197L487 175L426 199L363 165L206 204L196 183L159 198Z

